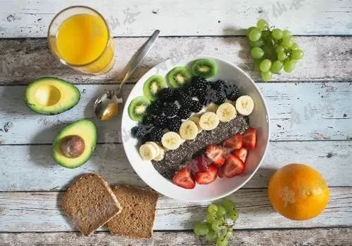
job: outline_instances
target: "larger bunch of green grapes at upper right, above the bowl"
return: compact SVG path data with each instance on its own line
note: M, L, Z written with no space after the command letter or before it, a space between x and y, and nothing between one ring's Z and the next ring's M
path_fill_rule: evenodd
M256 27L249 27L247 37L251 45L254 69L260 71L263 81L272 79L272 74L292 72L303 51L294 42L289 30L270 29L268 22L258 20Z

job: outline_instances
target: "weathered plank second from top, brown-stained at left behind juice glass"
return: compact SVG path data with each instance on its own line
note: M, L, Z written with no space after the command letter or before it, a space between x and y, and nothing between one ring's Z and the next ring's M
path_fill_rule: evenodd
M48 75L74 83L113 83L124 75L122 71L125 65L144 41L146 38L116 38L113 72L89 76L61 65L51 55L46 39L1 39L0 84L26 84ZM351 37L296 37L296 41L305 52L305 57L294 72L275 75L272 82L351 81ZM194 58L201 54L229 60L256 81L261 81L259 72L253 71L253 59L249 56L249 41L246 37L161 37L131 80L137 81L151 67L169 58Z

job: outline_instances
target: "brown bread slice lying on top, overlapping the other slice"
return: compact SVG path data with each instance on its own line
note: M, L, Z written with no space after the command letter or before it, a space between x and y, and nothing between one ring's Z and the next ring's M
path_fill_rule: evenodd
M121 212L113 190L99 174L85 174L63 195L63 211L83 235L90 235Z

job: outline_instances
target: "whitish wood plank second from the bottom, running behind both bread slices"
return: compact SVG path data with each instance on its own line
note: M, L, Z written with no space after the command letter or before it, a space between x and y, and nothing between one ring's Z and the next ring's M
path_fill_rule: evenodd
M352 188L331 188L327 208L308 221L291 221L277 214L268 201L265 188L238 190L229 198L237 203L236 228L309 228L352 226ZM63 193L0 193L1 232L77 231L63 215ZM161 197L156 210L155 230L184 230L204 218L208 202L190 203ZM106 231L106 228L102 228Z

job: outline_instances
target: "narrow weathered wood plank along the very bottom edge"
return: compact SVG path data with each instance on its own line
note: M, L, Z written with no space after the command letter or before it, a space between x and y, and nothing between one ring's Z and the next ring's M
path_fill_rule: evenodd
M313 228L289 229L279 231L234 231L234 238L229 245L296 245L325 246L352 245L352 228ZM208 245L202 237L193 232L155 232L150 240L134 240L111 235L108 232L94 233L82 237L80 233L0 233L0 245Z

